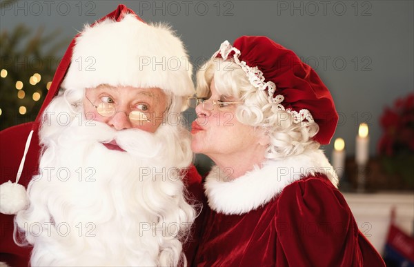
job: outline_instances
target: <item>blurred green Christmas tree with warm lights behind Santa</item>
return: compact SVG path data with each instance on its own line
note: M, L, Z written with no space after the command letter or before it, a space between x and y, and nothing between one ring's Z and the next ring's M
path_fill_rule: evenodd
M3 5L2 5L3 6ZM70 40L56 41L60 30L44 34L20 24L0 33L0 130L34 121Z

